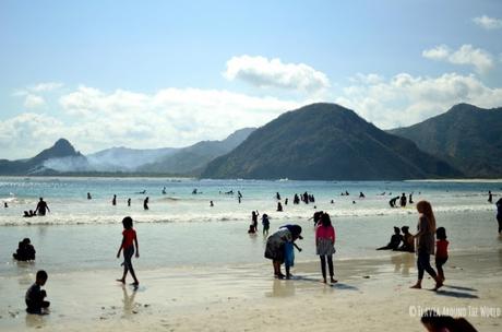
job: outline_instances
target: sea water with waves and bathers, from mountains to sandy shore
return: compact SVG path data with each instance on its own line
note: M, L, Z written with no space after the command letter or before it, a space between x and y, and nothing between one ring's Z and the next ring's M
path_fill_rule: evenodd
M165 192L163 190L165 188ZM196 194L193 190L196 189ZM143 191L145 193L142 193ZM174 178L0 178L0 275L17 275L46 269L53 272L117 268L121 220L130 215L140 241L139 269L199 264L266 262L266 236L248 235L251 212L271 218L271 233L285 224L303 227L304 249L298 260L315 260L313 212L323 210L336 228L336 259L375 258L393 226L415 232L415 204L392 209L389 201L403 192L414 201L428 200L438 226L446 227L451 250L498 250L494 204L502 181L262 181ZM234 194L227 192L232 191ZM239 203L238 191L242 199ZM292 204L295 193L308 192L314 203ZM342 192L349 195L340 195ZM87 192L92 199L87 200ZM276 212L276 193L284 212ZM364 198L359 198L363 192ZM117 194L117 205L111 204ZM35 210L38 198L48 203L46 216L23 217ZM143 209L150 198L150 210ZM131 199L131 206L127 200ZM288 204L285 204L288 199ZM333 200L333 203L332 203ZM210 205L214 202L214 206ZM7 202L9 208L3 208ZM37 250L36 263L12 260L17 242L29 237Z

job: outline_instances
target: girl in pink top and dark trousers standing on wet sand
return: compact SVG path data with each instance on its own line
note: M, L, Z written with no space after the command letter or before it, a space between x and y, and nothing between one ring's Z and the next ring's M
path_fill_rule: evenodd
M315 248L316 253L321 259L321 271L323 282L326 283L326 260L330 269L331 283L337 283L333 278L333 253L335 253L335 228L331 224L331 218L327 213L323 213L321 221L315 228Z

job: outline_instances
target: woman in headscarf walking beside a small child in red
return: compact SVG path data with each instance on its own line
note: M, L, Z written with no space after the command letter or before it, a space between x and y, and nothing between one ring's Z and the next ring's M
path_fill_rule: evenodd
M430 264L430 256L434 254L434 233L435 233L435 218L432 212L432 206L428 201L420 201L417 203L417 211L420 213L417 229L418 233L414 235L417 239L417 268L418 280L411 288L421 288L423 272L432 276L435 281L434 290L439 289L443 282L438 277L434 269Z

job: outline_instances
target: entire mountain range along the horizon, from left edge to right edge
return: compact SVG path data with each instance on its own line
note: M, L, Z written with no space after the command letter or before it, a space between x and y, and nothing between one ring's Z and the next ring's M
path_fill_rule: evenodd
M111 147L84 156L64 139L33 158L0 159L0 175L178 175L205 178L399 180L502 177L502 108L459 104L387 132L335 104L283 114L223 141L188 147Z

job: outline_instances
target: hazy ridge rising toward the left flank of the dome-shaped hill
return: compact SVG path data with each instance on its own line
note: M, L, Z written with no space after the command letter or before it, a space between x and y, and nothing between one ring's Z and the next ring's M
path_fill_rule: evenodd
M223 141L202 141L155 163L139 168L143 173L200 175L202 169L214 158L224 155L242 143L255 128L243 128L231 133Z

